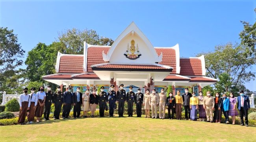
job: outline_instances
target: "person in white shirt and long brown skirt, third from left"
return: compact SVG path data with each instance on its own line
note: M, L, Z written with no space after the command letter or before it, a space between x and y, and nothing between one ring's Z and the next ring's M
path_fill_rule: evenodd
M46 97L44 90L45 90L45 87L41 86L39 87L37 92L38 101L37 101L37 106L35 107L35 117L37 117L37 122L40 122L40 118L42 117L43 111L44 111L45 97Z

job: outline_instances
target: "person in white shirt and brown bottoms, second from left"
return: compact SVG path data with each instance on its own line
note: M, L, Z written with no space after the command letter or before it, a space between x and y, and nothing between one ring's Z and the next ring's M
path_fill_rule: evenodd
M30 109L28 112L28 124L32 124L35 119L35 106L37 106L38 96L35 93L35 87L30 89Z

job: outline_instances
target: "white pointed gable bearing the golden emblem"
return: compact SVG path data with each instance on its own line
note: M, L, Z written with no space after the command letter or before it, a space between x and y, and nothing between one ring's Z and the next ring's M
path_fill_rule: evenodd
M128 55L129 58L124 54ZM117 37L108 54L102 53L102 56L104 61L110 63L152 64L162 60L162 55L158 56L148 38L134 22ZM131 59L130 57L136 59Z

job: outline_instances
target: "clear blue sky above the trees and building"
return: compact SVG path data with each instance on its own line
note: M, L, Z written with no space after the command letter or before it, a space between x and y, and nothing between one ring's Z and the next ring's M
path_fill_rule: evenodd
M51 44L64 29L95 29L115 40L132 22L155 47L180 45L180 56L240 42L240 20L254 23L256 1L14 1L1 0L0 26L14 29L22 48ZM26 57L25 57L26 58ZM24 58L24 60L25 60ZM25 68L26 66L22 66ZM252 69L256 72L256 66ZM256 90L256 80L246 86Z

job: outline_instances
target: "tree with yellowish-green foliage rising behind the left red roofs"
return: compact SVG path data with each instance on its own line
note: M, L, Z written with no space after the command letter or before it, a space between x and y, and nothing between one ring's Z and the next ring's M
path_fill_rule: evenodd
M99 36L93 29L67 29L58 33L58 42L63 46L64 54L83 54L83 42L91 45L111 46L113 40Z

